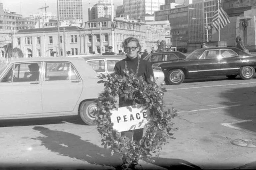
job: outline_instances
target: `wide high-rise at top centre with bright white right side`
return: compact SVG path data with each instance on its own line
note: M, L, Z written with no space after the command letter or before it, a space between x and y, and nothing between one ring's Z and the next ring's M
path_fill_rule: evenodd
M129 16L129 19L144 20L146 14L153 15L164 4L165 0L123 0L124 16Z

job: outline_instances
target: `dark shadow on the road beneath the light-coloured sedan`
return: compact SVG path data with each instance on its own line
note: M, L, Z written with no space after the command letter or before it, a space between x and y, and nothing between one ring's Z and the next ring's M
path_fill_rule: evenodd
M74 123L78 125L85 125L85 123L83 123L79 116L74 115L63 117L0 120L0 127L64 124L65 122Z

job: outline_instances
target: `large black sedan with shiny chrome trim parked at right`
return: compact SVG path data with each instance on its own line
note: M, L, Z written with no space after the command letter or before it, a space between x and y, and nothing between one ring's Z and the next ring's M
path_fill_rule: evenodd
M170 84L181 84L184 79L225 75L243 80L253 78L256 68L256 56L245 53L235 47L216 47L197 49L184 60L155 63L161 67L165 79Z

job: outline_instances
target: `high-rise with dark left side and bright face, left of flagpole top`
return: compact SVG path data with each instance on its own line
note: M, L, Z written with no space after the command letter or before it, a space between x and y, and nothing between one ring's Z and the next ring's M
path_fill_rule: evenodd
M111 16L111 4L110 3L97 3L92 8L88 9L89 21L100 17ZM113 13L115 14L114 4Z

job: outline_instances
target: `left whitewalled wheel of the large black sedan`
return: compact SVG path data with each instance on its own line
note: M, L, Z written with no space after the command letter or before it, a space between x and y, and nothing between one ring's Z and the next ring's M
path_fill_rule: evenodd
M168 73L168 82L170 84L181 84L185 79L185 74L181 69L171 70Z

